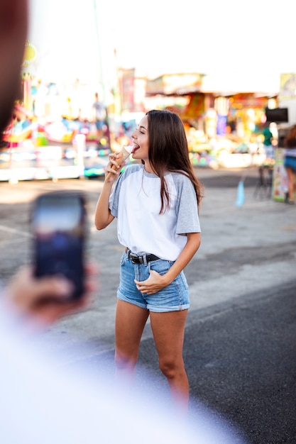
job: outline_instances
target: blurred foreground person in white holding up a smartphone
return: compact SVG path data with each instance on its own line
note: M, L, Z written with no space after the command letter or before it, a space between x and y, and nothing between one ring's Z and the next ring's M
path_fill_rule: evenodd
M0 1L0 131L20 82L27 21L26 0ZM86 306L94 291L93 273L88 270L87 292L77 303L65 302L71 293L65 279L35 279L28 267L2 289L0 443L242 443L204 409L184 423L163 409L159 392L153 403L142 392L126 396L118 387L114 392L107 371L94 379L85 366L61 367L35 335L27 334L28 326L31 333L36 324L48 326Z

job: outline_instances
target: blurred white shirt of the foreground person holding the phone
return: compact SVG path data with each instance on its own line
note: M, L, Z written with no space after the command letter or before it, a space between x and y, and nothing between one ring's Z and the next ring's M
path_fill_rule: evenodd
M102 370L65 369L37 344L0 304L1 444L243 443L207 412L183 423L161 394L115 392Z

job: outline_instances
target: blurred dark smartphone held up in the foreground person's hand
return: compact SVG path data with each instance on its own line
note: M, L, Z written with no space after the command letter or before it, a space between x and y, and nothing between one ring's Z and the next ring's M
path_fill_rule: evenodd
M73 284L70 299L84 292L87 211L80 192L49 192L35 199L31 214L35 277L61 274Z

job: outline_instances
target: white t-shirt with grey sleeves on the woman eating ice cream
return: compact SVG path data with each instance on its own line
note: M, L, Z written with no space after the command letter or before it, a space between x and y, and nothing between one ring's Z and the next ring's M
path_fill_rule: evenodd
M134 253L149 253L176 260L187 242L187 233L200 233L197 196L184 174L165 175L170 208L160 214L160 178L143 165L131 165L121 174L109 200L111 214L118 218L121 245Z

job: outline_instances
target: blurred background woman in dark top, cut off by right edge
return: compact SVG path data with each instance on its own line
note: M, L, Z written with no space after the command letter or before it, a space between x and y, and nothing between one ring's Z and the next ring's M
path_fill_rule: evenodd
M287 173L287 204L295 204L296 179L296 125L292 126L284 140L284 167Z

